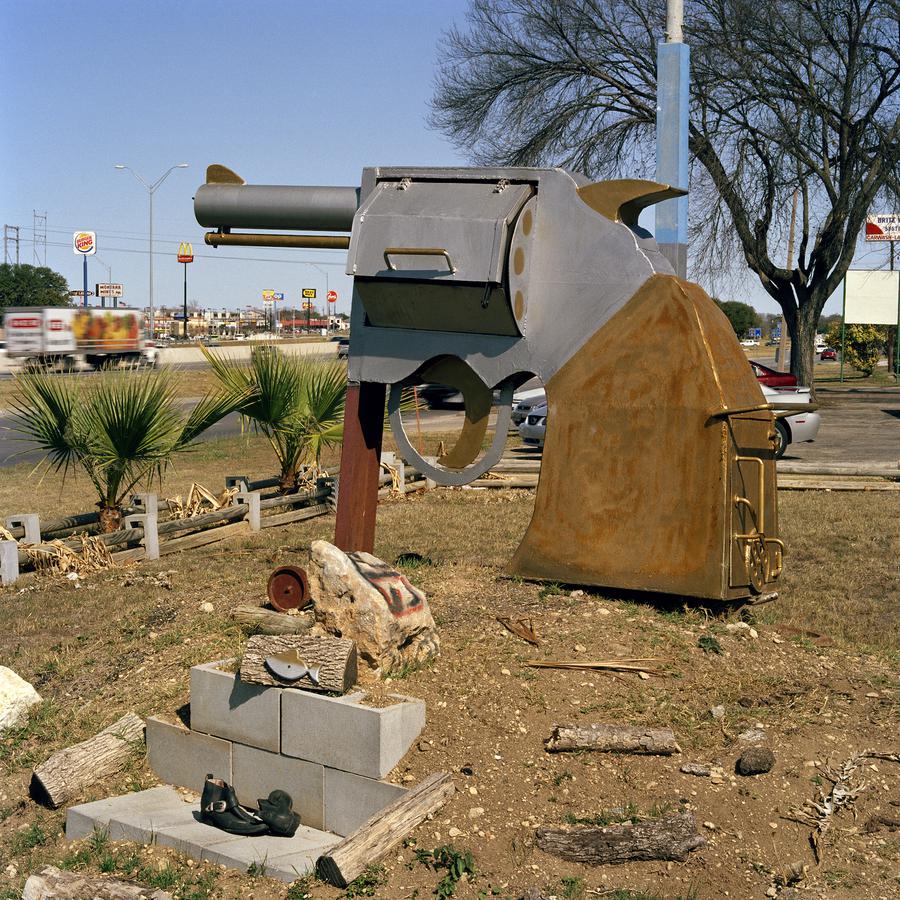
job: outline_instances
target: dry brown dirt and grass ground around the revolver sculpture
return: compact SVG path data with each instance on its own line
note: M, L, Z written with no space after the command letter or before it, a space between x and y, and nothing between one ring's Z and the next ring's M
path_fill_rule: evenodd
M560 900L896 897L900 764L859 760L849 783L864 790L832 817L818 864L812 829L792 812L830 791L828 773L845 761L900 750L896 495L781 495L789 556L779 600L751 620L755 637L696 608L506 577L532 502L527 491L437 490L379 509L376 553L426 557L404 571L427 593L442 642L434 665L382 685L423 698L428 709L425 730L390 780L447 771L457 792L345 891L312 877L288 888L157 847L70 844L64 811L27 799L31 768L52 751L128 710L171 715L187 702L191 665L240 652L244 635L229 610L262 602L272 566L302 564L310 541L331 537L333 518L78 582L32 579L0 590L0 663L44 697L26 727L0 737L0 898L19 897L46 862L197 900L424 900L454 887L458 897L510 898L536 887ZM206 602L214 612L201 611ZM542 645L505 631L496 621L504 615L530 619ZM616 656L659 658L661 674L526 665ZM573 722L671 727L682 752L547 753L553 725ZM764 732L775 754L768 774L735 774L748 729ZM683 774L689 762L721 766L722 775ZM153 784L136 756L84 799ZM683 863L588 867L534 846L541 826L681 809L707 841ZM426 865L422 851L446 845L471 853L474 875L454 885L446 869Z

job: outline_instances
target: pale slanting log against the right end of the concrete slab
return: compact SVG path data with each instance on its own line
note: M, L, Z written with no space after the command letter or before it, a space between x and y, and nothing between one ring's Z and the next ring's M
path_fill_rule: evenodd
M429 775L320 856L316 862L319 877L335 887L347 887L366 866L402 841L427 816L437 812L455 790L447 772Z

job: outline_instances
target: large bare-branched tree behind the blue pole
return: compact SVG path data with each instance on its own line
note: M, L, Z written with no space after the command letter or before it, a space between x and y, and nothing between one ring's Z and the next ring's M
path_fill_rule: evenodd
M898 13L898 0L685 3L692 266L733 273L743 255L806 384L866 215L900 196ZM432 124L479 163L652 177L664 26L663 0L472 0L440 48Z

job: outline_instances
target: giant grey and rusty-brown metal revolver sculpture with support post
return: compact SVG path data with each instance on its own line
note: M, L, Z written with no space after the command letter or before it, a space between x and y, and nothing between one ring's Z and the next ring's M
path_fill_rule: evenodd
M562 169L368 168L356 188L245 185L210 167L195 198L207 243L349 251L336 543L373 547L387 389L406 460L459 485L500 458L513 391L538 376L548 428L513 572L719 600L767 589L783 554L772 412L724 315L637 224L679 193ZM465 398L436 460L401 418L402 388L422 382Z

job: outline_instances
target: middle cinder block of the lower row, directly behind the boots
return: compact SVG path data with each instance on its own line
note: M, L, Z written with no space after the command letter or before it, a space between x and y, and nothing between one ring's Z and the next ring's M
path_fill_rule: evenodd
M300 821L310 828L325 827L325 769L316 763L234 744L231 784L244 806L257 805L278 789L294 801Z

